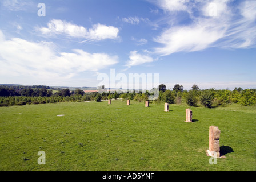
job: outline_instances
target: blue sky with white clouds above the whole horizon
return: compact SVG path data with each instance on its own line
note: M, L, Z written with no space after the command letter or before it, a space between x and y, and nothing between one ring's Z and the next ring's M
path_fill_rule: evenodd
M97 86L115 69L256 88L256 1L2 0L0 65L1 84Z

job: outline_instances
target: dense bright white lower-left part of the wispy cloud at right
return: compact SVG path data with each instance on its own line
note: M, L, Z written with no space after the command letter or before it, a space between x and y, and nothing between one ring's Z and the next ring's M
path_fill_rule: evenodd
M224 32L225 27L210 26L208 22L169 28L154 39L155 42L164 45L156 48L155 52L169 55L180 51L200 51L222 38Z

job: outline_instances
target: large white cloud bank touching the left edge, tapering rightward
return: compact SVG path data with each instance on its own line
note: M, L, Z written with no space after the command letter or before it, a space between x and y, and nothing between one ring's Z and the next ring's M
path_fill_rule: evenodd
M81 49L58 53L54 47L51 42L36 43L19 38L6 40L0 31L1 78L16 76L41 81L65 80L81 72L94 72L118 63L118 56L89 53Z

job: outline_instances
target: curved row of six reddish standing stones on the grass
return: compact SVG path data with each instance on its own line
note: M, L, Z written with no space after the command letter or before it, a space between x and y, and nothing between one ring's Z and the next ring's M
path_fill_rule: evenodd
M111 100L108 102L111 104ZM127 100L127 105L130 105L130 100ZM145 107L149 107L149 101L145 102ZM169 112L169 104L165 103L165 112ZM192 110L186 109L186 121L187 123L191 123L192 121ZM207 150L207 155L212 156L214 158L220 158L220 148L219 148L219 136L221 134L221 130L217 126L209 127L209 150Z

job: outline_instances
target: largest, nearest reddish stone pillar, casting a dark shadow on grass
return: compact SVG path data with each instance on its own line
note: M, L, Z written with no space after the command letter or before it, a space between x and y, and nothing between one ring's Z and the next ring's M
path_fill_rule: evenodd
M210 126L209 128L209 151L211 156L220 157L220 149L219 149L219 135L221 134L221 130L217 126Z

